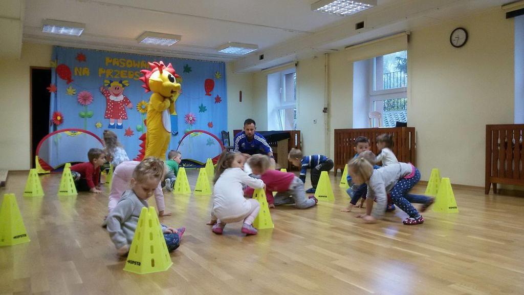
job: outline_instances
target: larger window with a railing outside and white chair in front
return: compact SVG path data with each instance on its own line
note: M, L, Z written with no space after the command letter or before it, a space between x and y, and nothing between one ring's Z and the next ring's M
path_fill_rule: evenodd
M407 122L407 51L377 56L353 64L353 127L379 127L368 113L380 112L380 127ZM369 77L369 78L368 78Z

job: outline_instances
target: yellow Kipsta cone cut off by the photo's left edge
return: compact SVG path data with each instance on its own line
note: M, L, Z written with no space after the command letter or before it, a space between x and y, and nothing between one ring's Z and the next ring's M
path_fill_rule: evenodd
M14 246L30 241L15 194L5 194L0 208L0 246Z

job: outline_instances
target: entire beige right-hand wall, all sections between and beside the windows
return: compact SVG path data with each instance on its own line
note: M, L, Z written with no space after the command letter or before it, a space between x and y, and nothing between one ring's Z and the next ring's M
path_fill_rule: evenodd
M467 44L453 48L449 36L465 27ZM484 185L486 124L512 123L514 24L500 9L413 30L408 50L408 123L417 128L422 180L431 168L452 183ZM333 130L352 127L353 65L345 52L329 55L330 148L326 151L322 107L324 56L299 60L299 122L306 154L333 155ZM265 73L255 75L254 105L267 117ZM265 88L266 87L266 88ZM256 114L255 114L256 117ZM316 118L317 124L312 120ZM259 118L264 122L263 118ZM267 119L266 119L267 121Z

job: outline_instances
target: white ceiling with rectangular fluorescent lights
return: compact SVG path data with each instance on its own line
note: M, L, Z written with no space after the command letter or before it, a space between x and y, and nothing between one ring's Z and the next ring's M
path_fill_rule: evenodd
M25 2L21 13L24 42L235 61L238 71L258 70L325 49L342 49L399 30L459 18L511 2L378 0L374 8L339 17L312 12L310 5L318 0L5 1L11 8L24 7ZM81 37L42 33L42 20L46 18L84 23L84 33ZM360 19L374 25L366 25L356 34L354 23ZM144 31L177 34L182 39L167 48L139 45L136 38ZM217 46L228 41L257 44L259 50L247 57L216 51ZM2 51L0 45L0 53ZM266 58L258 61L261 53Z

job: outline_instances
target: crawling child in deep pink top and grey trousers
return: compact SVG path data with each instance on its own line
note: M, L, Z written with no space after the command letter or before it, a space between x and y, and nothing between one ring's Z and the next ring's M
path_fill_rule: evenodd
M304 183L293 173L267 169L269 159L266 155L252 155L247 162L253 173L260 175L260 179L266 184L266 199L269 208L296 204L297 208L305 209L318 203L318 199L314 196L305 197ZM253 195L253 192L252 188L246 188L244 191L245 195L249 196ZM277 192L275 197L272 192Z

